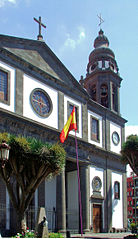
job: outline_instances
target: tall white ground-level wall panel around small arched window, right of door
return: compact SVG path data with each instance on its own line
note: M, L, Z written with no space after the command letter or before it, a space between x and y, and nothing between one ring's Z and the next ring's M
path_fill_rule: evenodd
M120 199L114 199L114 182L120 183ZM123 228L122 175L112 172L112 227Z

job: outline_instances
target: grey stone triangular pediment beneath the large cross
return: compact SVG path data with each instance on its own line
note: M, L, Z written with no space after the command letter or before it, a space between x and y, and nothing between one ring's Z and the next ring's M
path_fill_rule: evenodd
M8 55L11 54L14 63L17 61L23 65L24 62L30 64L29 69L33 71L36 68L35 71L39 74L41 72L41 75L47 75L49 79L60 84L60 89L62 87L64 92L72 91L75 95L80 95L81 98L89 97L86 90L44 41L0 35L0 47L7 51Z

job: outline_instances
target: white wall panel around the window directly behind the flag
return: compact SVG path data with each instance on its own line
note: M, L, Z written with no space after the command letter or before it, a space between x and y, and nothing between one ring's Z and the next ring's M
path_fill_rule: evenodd
M82 138L82 106L81 106L81 103L79 103L78 101L75 101L74 99L68 97L68 96L64 96L64 124L67 122L67 102L70 102L71 104L74 104L76 106L79 107L79 133L76 133L77 137L80 137ZM71 135L75 135L75 132L74 130L70 131Z

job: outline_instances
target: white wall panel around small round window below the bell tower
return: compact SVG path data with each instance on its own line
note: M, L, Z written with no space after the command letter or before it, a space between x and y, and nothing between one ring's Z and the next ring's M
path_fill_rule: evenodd
M118 145L115 145L112 141L112 133L116 131L120 137ZM113 122L110 122L110 149L115 153L120 153L121 150L121 127Z

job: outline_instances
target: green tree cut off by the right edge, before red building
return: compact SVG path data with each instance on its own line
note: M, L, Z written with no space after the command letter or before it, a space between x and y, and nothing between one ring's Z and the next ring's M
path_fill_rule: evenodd
M123 144L122 160L129 164L134 173L138 176L138 136L130 135Z

